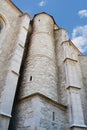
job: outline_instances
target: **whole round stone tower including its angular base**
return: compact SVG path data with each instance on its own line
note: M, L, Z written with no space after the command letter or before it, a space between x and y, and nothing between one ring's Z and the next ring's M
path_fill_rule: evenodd
M45 13L33 19L12 130L68 129L66 106L58 103L54 24Z

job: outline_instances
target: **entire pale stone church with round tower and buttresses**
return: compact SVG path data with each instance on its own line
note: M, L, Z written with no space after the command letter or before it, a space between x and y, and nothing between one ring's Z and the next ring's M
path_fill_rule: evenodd
M0 0L0 130L87 130L87 56L42 12Z

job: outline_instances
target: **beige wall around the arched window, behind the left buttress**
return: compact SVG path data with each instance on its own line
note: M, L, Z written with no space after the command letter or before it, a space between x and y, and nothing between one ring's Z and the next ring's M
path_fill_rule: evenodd
M20 25L18 16L20 14L21 13L14 11L5 0L0 1L0 16L3 17L5 21L4 34L3 37L0 38L0 40L3 39L0 41L0 68L2 68L2 71L0 72L0 86L5 84L5 78L15 48L15 38L19 31L19 26L17 27L17 25Z

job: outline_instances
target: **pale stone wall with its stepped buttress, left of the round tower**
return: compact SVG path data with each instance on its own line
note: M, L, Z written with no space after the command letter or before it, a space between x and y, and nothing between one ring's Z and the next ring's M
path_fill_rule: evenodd
M5 23L0 37L0 129L7 130L30 18L9 0L0 1L0 18Z

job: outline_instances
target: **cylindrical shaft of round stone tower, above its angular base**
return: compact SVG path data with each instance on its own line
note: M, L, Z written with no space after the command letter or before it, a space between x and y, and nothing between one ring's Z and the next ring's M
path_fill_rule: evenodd
M53 26L53 19L45 13L34 17L20 89L21 99L33 93L41 93L58 101Z

